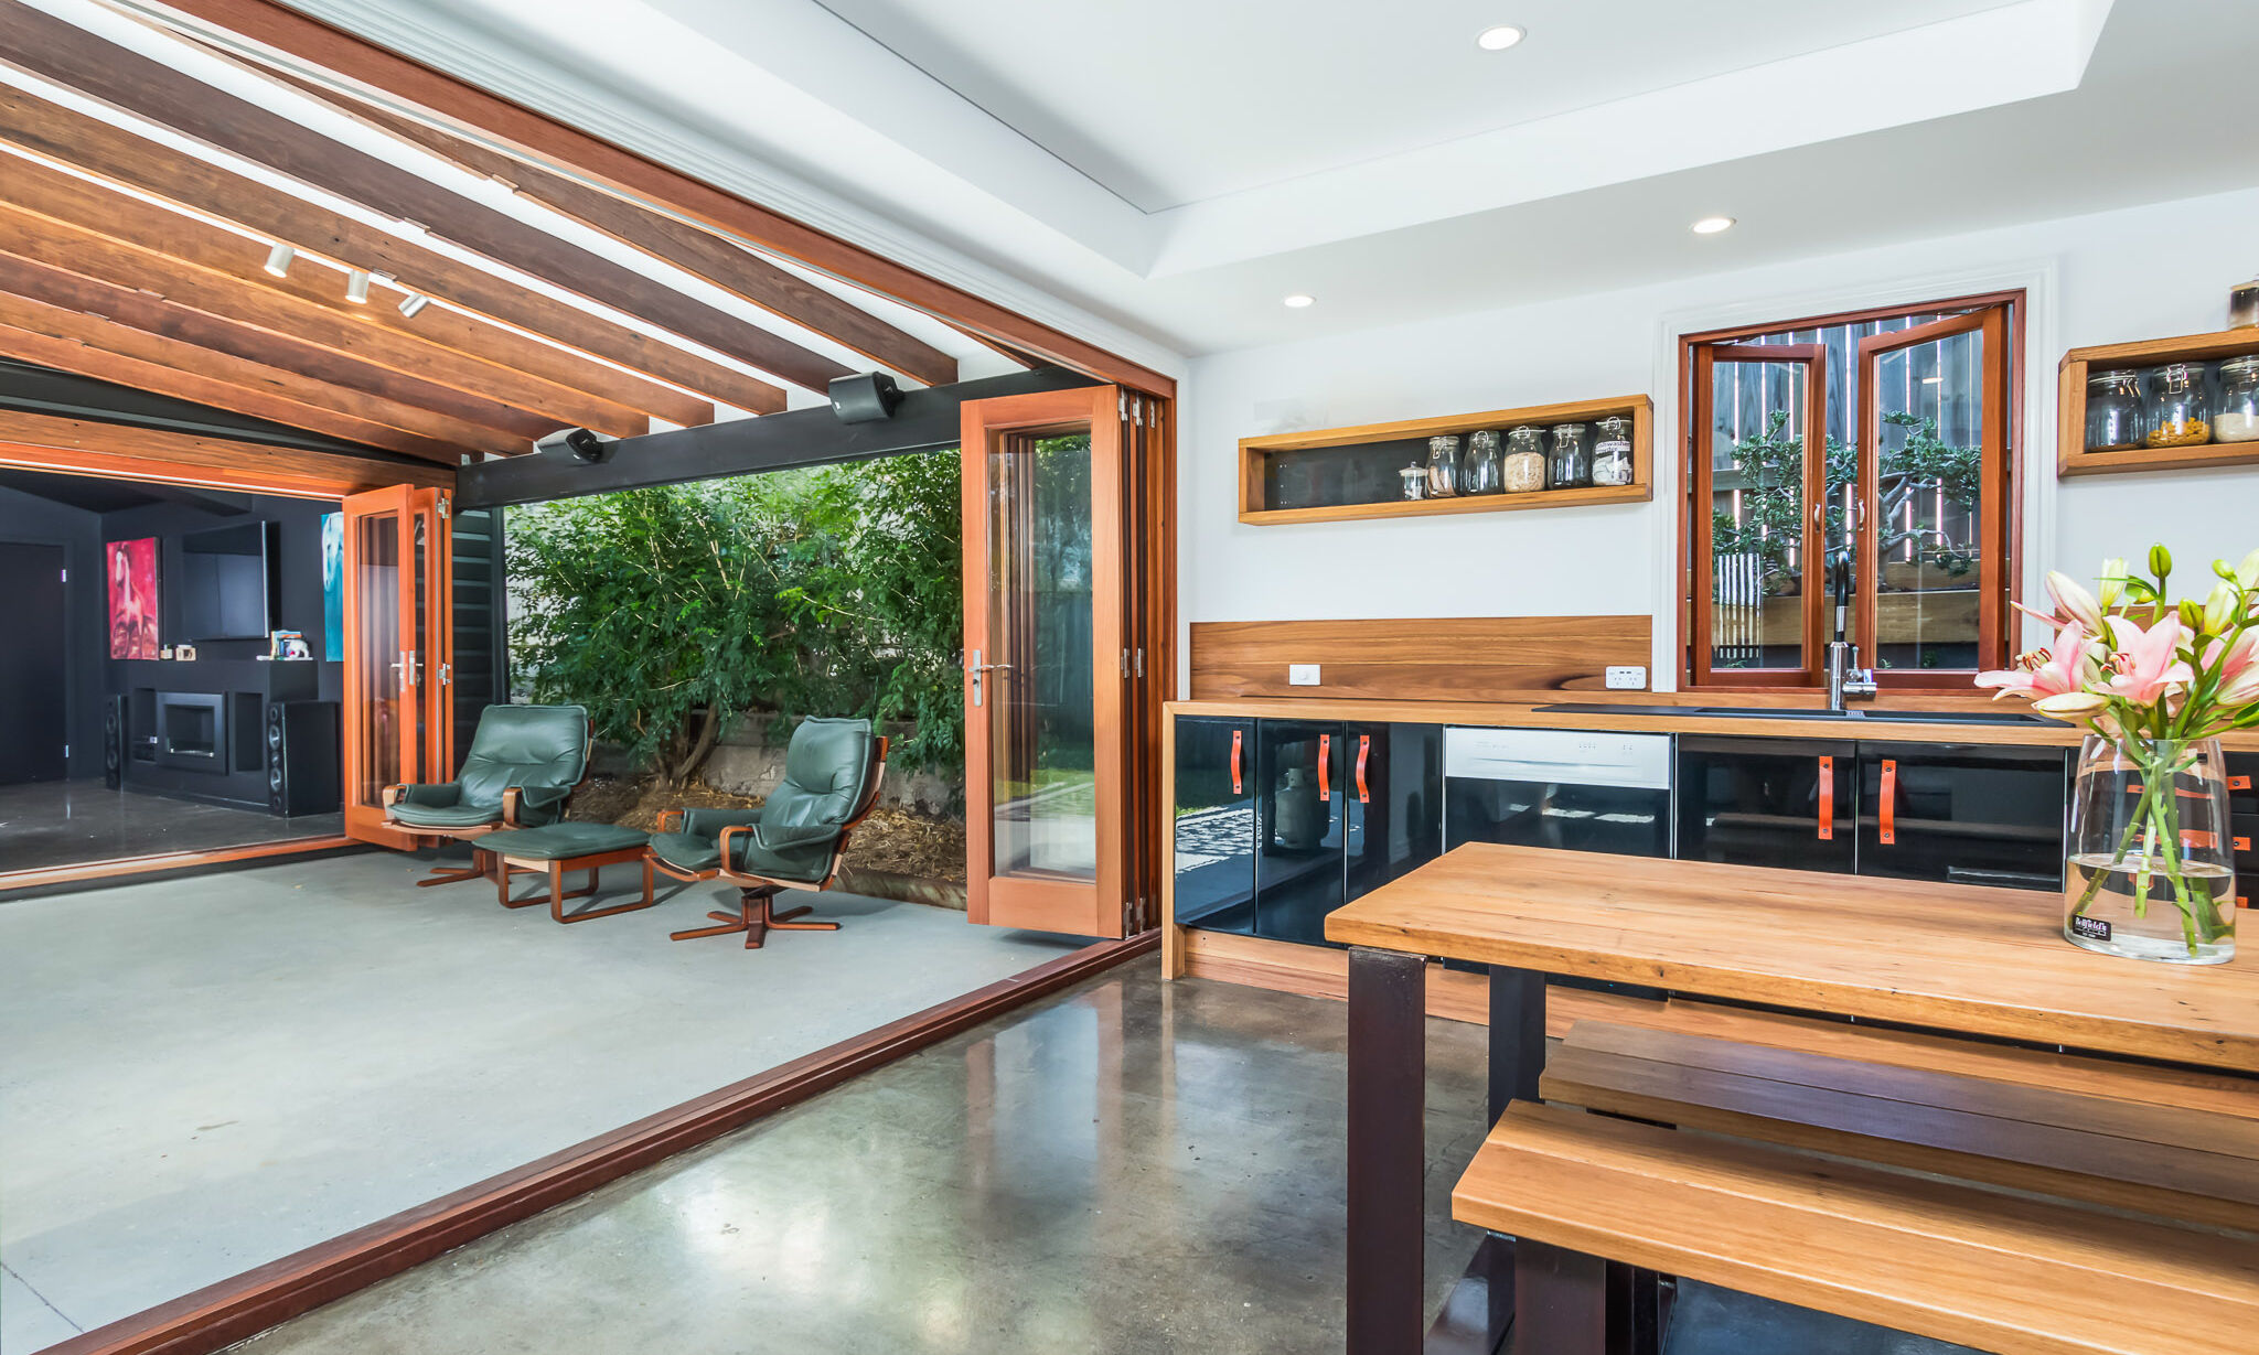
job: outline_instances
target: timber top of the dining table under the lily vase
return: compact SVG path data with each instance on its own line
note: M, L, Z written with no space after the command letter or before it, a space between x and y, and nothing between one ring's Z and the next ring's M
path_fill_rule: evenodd
M1326 939L2259 1073L2259 955L2081 951L2031 890L1468 842Z

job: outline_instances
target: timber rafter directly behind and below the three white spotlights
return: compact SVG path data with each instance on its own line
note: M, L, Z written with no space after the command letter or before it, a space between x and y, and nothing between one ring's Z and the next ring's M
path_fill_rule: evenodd
M14 181L9 183L9 192L14 194ZM129 215L120 206L120 219ZM294 296L181 262L156 248L127 244L120 235L124 233L81 230L52 217L36 217L14 206L0 206L0 251L18 260L34 260L97 282L149 291L208 316L253 325L282 339L328 348L339 357L454 391L465 400L515 409L547 425L542 431L574 425L612 436L651 431L651 420L626 404L569 391L520 370L427 343L416 334L375 325L366 318L366 312L391 309L391 305L382 296L373 296L370 305L343 300L343 278L337 278L339 296ZM244 253L264 253L248 239L242 244L246 246ZM352 314L346 314L348 309ZM490 422L495 427L515 427L515 420Z

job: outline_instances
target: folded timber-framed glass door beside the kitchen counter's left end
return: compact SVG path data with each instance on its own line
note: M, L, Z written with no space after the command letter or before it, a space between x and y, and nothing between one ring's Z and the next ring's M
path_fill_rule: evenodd
M1116 386L965 404L967 917L1120 937L1143 917L1130 461Z

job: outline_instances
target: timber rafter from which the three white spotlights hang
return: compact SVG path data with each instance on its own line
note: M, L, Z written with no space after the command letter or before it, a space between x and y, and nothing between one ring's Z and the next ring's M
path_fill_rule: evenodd
M0 86L0 140L104 183L235 221L303 253L389 273L425 296L709 400L755 413L784 409L784 391L759 377L9 86ZM651 413L669 422L712 422L712 416L675 420L657 409Z

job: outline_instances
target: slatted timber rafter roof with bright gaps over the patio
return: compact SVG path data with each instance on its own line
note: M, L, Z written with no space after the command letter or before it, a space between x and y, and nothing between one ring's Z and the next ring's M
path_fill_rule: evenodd
M328 84L90 27L0 0L0 357L441 465L775 413L854 370L1003 370L994 346ZM221 88L253 77L255 102ZM395 154L323 131L337 115ZM273 246L296 251L282 276Z

